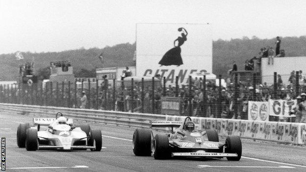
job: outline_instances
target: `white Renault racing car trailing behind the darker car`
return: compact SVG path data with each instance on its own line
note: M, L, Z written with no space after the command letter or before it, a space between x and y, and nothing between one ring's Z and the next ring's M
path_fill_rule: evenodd
M92 151L100 151L102 148L101 130L92 130L88 124L73 125L72 119L66 119L60 112L56 118L33 118L33 123L34 126L29 123L19 124L18 147L26 147L26 150L90 148Z

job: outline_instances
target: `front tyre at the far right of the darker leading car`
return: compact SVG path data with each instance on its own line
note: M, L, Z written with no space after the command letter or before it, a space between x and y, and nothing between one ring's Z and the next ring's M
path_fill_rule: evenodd
M237 157L227 157L229 161L239 161L242 153L242 145L239 136L228 136L225 141L225 153L237 153Z

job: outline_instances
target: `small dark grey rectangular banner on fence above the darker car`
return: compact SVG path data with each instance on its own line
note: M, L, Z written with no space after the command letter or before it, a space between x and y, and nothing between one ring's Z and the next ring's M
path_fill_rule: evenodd
M180 98L161 97L161 114L179 115Z

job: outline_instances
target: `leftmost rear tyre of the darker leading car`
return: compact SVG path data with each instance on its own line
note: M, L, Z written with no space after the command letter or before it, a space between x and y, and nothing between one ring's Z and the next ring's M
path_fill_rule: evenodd
M133 152L136 156L151 156L151 129L136 128L133 134Z

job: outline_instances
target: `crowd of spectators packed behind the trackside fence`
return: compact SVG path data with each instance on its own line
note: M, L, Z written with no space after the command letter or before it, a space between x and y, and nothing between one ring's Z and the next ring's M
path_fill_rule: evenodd
M302 71L300 71L299 76L300 93L305 93L306 78L301 73ZM161 97L178 96L181 101L179 115L247 119L248 101L297 98L299 95L296 95L295 78L295 71L292 71L289 78L290 84L283 85L281 76L278 75L276 95L273 85L263 83L256 85L254 88L251 79L239 82L239 91L236 95L237 104L234 103L235 88L231 82L227 84L227 87L220 88L213 81L206 81L206 98L204 98L202 78L192 80L191 88L189 88L189 85L181 85L178 91L176 87L171 85L168 85L165 89L160 85L155 87L154 94L151 86L145 87L144 90L138 85L134 85L133 88L122 86L113 90L113 87L108 87L106 77L98 92L96 88L74 90L73 85L70 86L70 90L68 90L67 85L64 86L64 90L61 90L61 86L59 86L59 90L41 90L40 86L34 85L32 90L25 91L19 89L5 90L0 86L0 101L161 114ZM221 89L221 92L219 92L219 89ZM144 95L143 102L142 94ZM132 97L132 95L134 96ZM144 104L143 110L142 104Z

